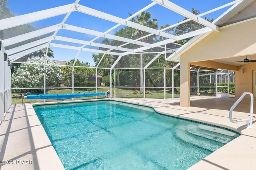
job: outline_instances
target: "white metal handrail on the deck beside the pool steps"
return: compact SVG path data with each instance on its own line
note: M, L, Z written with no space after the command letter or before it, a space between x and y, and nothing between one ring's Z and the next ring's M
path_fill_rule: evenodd
M234 108L238 105L239 102L241 102L241 100L244 98L244 96L246 96L246 94L249 94L251 96L251 104L250 104L250 124L248 119L241 119L241 120L233 120L232 119L232 112L234 110ZM246 121L246 128L251 128L252 126L252 112L253 112L253 94L250 92L244 92L244 94L242 94L242 96L236 101L236 103L233 104L233 106L230 108L229 110L229 120L232 123L236 123L236 122L240 122L240 121Z

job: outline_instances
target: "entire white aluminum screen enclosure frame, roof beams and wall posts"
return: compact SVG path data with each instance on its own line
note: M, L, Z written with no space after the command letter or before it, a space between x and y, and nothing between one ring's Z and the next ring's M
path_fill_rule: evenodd
M114 69L114 97L116 97L116 88L140 88L140 87L116 87L116 69L114 68L116 66L116 64L120 61L120 59L122 58L122 56L125 55L129 55L129 54L142 54L145 53L147 54L147 52L145 52L144 50L147 49L151 49L154 47L160 47L160 48L164 48L164 51L162 52L156 52L156 56L144 67L144 68L118 68L119 70L122 69L143 69L143 75L144 75L144 98L146 97L145 95L145 90L146 88L164 88L164 98L166 98L166 88L172 88L172 98L174 98L174 88L178 88L178 87L174 87L174 70L180 70L177 67L180 65L180 63L178 63L176 66L174 66L173 68L148 68L150 66L150 64L152 64L160 55L164 54L165 55L165 59L169 59L169 57L167 58L167 53L173 53L178 49L168 49L166 48L166 44L168 43L174 43L177 40L182 40L182 39L186 39L189 37L193 37L196 35L202 35L204 33L210 32L210 31L220 31L220 27L218 27L217 25L215 25L214 23L211 23L209 21L204 20L203 18L201 18L201 16L205 16L206 14L210 14L211 12L214 12L216 10L220 10L222 8L225 8L227 6L233 5L236 6L237 4L241 3L242 0L235 0L233 2L230 2L228 4L222 5L218 8L214 8L212 10L209 10L207 12L204 12L202 14L199 14L198 16L192 14L191 12L185 10L184 8L181 8L180 6L168 1L168 0L152 0L153 2L151 4L149 4L148 6L142 8L141 10L139 10L138 12L136 12L135 14L133 14L132 16L126 18L126 19L122 19L110 14L106 14L104 12L98 11L98 10L94 10L92 8L88 8L86 6L82 6L79 3L80 0L76 0L74 2L74 4L68 4L68 5L64 5L64 6L59 6L56 8L51 8L51 9L47 9L47 10L42 10L39 12L33 12L30 14L25 14L25 15L21 15L21 16L15 16L12 18L7 18L4 20L0 20L0 30L4 30L4 29L8 29L8 28L12 28L12 27L16 27L19 25L24 25L26 23L32 23L34 21L39 21L39 20L44 20L46 18L51 18L54 16L59 16L59 15L63 15L66 14L66 16L64 17L64 19L62 20L62 22L60 24L56 24L56 25L52 25L49 27L45 27L42 29L38 29L36 31L31 31L29 33L24 33L22 35L18 35L16 37L11 37L8 39L4 39L2 40L2 45L4 47L9 46L9 45L14 45L16 43L28 40L28 39L32 39L41 35L45 35L47 33L51 33L54 32L52 36L50 37L45 37L39 40L36 40L34 42L31 43L27 43L24 45L21 45L19 47L15 47L12 49L9 49L6 51L6 53L9 55L9 59L11 60L12 63L20 63L20 62L16 62L16 60L20 59L21 57L23 57L24 55L28 55L29 53L32 53L34 51L38 51L40 49L44 49L47 48L46 50L46 56L48 53L48 49L49 47L58 47L58 48L66 48L66 49L74 49L74 50L78 50L78 53L76 55L74 64L72 66L72 87L67 87L67 88L72 88L72 92L74 93L74 88L96 88L96 92L98 88L98 84L97 84L97 75L98 75L98 68L99 69L108 69L110 70L110 97L112 98L112 70ZM130 19L136 17L138 14L140 14L141 12L147 10L148 8L151 8L152 6L154 6L155 4L160 4L162 6L164 6L165 8L168 8L178 14L181 14L185 17L187 17L187 20L181 21L179 23L170 25L169 27L166 27L164 29L161 30L156 30L156 29L152 29L150 27L146 27L144 25L140 25L138 23L134 23L132 21L130 21ZM94 31L94 30L90 30L90 29L86 29L86 28L82 28L82 27L77 27L75 25L68 25L65 24L65 21L68 19L68 17L70 16L70 14L74 11L78 11L78 12L82 12L84 14L88 14L94 17L98 17L98 18L102 18L104 20L108 20L108 21L112 21L112 22L116 22L118 23L117 25L115 25L114 27L108 29L107 31L100 32L100 31ZM177 25L180 25L182 23L188 22L188 21L196 21L204 26L206 26L205 28L202 29L198 29L196 31L192 31L190 33L186 33L183 35L179 35L179 36L175 36L169 33L165 33L164 31L167 29L170 29L172 27L175 27ZM115 28L119 27L120 25L124 25L124 26L128 26L128 27L132 27L135 29L140 29L142 31L146 31L150 34L145 35L144 37L140 37L138 39L129 39L129 38L124 38L124 37L119 37L116 35L112 35L109 34L110 31L114 30ZM79 39L72 39L72 38L68 38L68 37L62 37L62 36L58 36L56 35L58 33L58 31L60 29L67 29L70 31L76 31L76 32L80 32L80 33L86 33L89 35L95 35L97 36L96 38L92 39L91 41L83 41L83 40L79 40ZM167 39L164 41L160 41L157 43L145 43L142 41L139 41L145 37L149 37L151 35L159 35L162 37L166 37ZM123 45L120 45L118 47L116 46L112 46L112 45L105 45L105 44L101 44L101 43L95 43L94 41L100 37L104 37L104 38L108 38L108 39L113 39L113 40L117 40L117 41L123 41L125 42ZM66 42L70 42L70 43L78 43L78 44L82 44L81 47L75 47L75 46L71 46L71 45L62 45L62 44L56 44L56 43L51 43L52 40L58 40L58 41L66 41ZM128 48L124 48L124 45L127 45L129 43L132 44L136 44L136 45L141 45L142 47L137 48L137 49L128 49ZM174 43L176 44L176 43ZM86 45L91 45L91 46L95 46L95 47L102 47L102 48L107 48L110 49L108 51L103 51L103 50L98 50L98 49L89 49L89 48L84 48ZM164 45L164 47L162 47L162 45ZM178 44L177 44L178 45ZM2 47L3 48L3 47ZM124 53L116 53L116 52L112 52L112 50L119 50L119 51L124 51ZM75 66L75 63L78 59L78 56L80 54L80 51L90 51L90 52L94 52L94 53L103 53L104 55L102 56L102 58L100 59L99 63L97 64L97 66ZM114 64L112 64L112 66L110 68L100 68L99 65L102 61L102 59L105 57L105 55L117 55L119 56L116 61L114 62ZM46 57L45 57L46 58ZM35 64L35 63L22 63L22 64ZM56 64L38 64L38 65L44 65L44 69L46 65L54 65L54 66L61 66L61 65L56 65ZM68 66L68 65L65 65ZM82 67L82 68L96 68L96 87L74 87L74 67ZM146 69L164 69L164 87L146 87L145 85L145 71ZM172 69L172 86L171 87L166 87L166 69ZM194 71L194 70L192 70ZM199 71L197 70L197 81L198 81L198 92L199 92ZM229 75L229 71L228 71L228 75ZM217 90L218 86L217 85L217 81L218 77L217 77L217 72L216 72L216 95L217 95ZM228 76L228 92L229 92L229 76ZM233 81L234 81L234 77L233 77ZM108 87L107 87L108 88ZM193 88L193 87L192 87ZM211 87L209 87L211 88ZM13 89L26 89L26 88L13 88ZM44 74L44 94L46 92L46 89L54 89L54 88L46 88L46 75ZM56 89L61 89L61 88L56 88Z

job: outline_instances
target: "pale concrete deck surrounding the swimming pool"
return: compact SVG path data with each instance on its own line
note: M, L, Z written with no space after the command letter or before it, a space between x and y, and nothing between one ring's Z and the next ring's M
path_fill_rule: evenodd
M206 156L190 169L256 169L256 114L254 113L254 127L251 129L244 128L245 122L231 123L228 112L236 101L234 98L192 97L191 107L180 107L179 98L115 98L113 100L151 106L160 113L219 125L242 133L240 137ZM47 102L47 104L49 103L56 102ZM254 101L255 103L256 101ZM0 160L10 160L13 163L0 164L1 170L64 169L32 107L34 104L44 103L12 105L4 122L1 123ZM244 99L234 109L233 118L249 119L249 112L250 100ZM22 162L30 160L32 164Z

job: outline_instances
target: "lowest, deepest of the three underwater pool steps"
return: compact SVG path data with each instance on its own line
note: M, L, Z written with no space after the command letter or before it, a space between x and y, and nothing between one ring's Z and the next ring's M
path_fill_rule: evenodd
M218 143L216 141L211 141L209 139L205 139L203 137L198 137L186 131L186 128L178 128L176 129L176 136L185 143L189 143L190 145L194 145L195 147L199 147L205 150L209 150L210 152L214 152L223 146L222 143Z

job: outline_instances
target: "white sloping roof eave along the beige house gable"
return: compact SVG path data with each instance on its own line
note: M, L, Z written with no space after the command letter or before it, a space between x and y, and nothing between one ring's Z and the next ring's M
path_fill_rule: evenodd
M248 20L250 18L256 17L256 13L252 12L251 14L249 14L247 16L246 15L242 16L240 20L232 20L232 18L234 18L234 16L236 16L237 14L240 14L240 12L242 10L244 10L244 8L246 8L250 4L252 4L252 2L256 2L256 0L243 0L239 4L233 5L229 10L224 12L224 14L222 14L220 17L218 17L216 20L214 20L213 23L215 25L218 25L219 27L221 27L221 26L229 25L232 23L237 23L242 20ZM196 45L202 39L204 39L205 37L210 35L210 33L212 33L212 31L193 37L192 39L190 39L190 41L188 41L186 44L184 44L182 47L180 47L172 55L170 55L167 58L167 60L180 62L180 56L182 54L184 54L186 51L188 51L190 48L192 48L194 45Z

